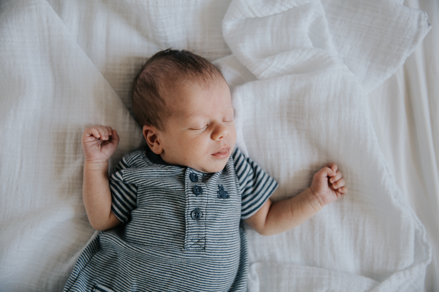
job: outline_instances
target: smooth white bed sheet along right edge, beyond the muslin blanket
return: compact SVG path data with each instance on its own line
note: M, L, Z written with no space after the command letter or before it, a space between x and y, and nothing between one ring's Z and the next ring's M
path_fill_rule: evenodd
M390 171L432 244L425 290L439 291L439 3L404 4L426 11L433 28L404 65L368 99Z

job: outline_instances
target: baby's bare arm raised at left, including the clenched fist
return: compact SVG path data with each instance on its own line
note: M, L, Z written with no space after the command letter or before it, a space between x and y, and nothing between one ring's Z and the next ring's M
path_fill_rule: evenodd
M116 150L119 136L111 127L98 125L84 130L81 143L85 156L83 201L88 221L94 229L111 229L121 223L111 211L108 184L108 158Z

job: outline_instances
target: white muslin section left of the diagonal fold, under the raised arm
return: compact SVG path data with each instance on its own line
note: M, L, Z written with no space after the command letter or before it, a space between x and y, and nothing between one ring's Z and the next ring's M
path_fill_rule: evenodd
M113 165L142 134L47 2L2 2L0 23L0 291L62 291L94 232L83 130L118 130Z

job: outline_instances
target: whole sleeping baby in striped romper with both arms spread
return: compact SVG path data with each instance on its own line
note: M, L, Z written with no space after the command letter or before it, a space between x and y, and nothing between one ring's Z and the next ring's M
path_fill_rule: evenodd
M347 193L334 163L288 200L235 146L230 90L209 61L156 53L134 79L133 110L148 147L125 155L111 127L86 128L83 200L102 230L80 255L64 291L246 291L244 222L262 235L287 231Z

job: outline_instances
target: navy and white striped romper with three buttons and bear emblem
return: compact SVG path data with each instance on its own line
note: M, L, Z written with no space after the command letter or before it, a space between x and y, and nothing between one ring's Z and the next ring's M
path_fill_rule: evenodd
M149 149L122 158L110 176L112 211L79 256L64 291L246 291L241 219L277 182L238 148L220 172L169 165Z

